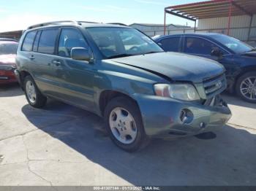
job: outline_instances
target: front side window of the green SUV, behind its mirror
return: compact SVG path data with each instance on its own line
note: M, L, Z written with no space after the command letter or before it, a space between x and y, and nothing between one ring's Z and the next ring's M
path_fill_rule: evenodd
M59 55L70 58L70 52L73 47L88 49L88 45L80 31L75 28L63 28L59 38Z

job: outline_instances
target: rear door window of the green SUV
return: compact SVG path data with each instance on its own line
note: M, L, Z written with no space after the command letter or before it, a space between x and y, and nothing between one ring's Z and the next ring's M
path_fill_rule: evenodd
M42 31L39 39L38 52L53 55L58 31L59 29L57 28Z

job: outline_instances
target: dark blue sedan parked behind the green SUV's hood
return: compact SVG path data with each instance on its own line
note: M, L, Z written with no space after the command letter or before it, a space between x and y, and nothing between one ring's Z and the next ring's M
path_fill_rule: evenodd
M222 63L227 70L227 90L256 103L254 47L224 34L178 34L153 39L167 52L184 52Z

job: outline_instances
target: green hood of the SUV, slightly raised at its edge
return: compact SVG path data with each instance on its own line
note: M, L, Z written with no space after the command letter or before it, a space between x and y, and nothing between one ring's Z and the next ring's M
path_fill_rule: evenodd
M159 52L112 59L117 63L135 66L174 81L203 82L225 72L216 61L177 52Z

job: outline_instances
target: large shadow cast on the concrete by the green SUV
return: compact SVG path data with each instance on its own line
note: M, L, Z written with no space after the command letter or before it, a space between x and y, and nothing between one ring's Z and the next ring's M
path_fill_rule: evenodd
M256 135L247 130L226 125L212 139L154 139L128 153L110 141L102 119L89 112L57 101L42 110L26 105L22 112L37 128L131 184L256 185Z

